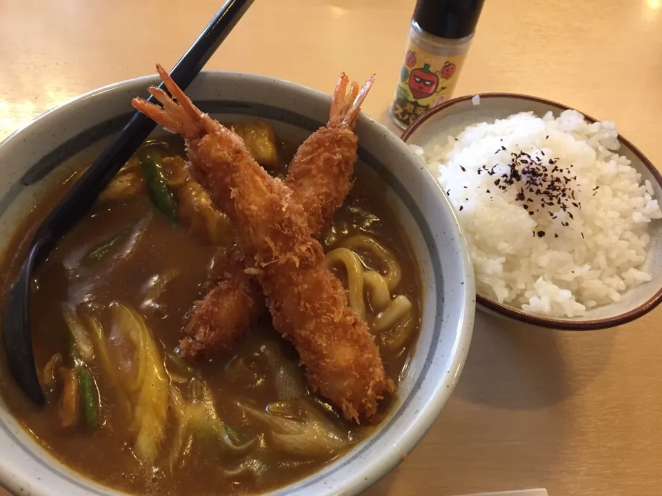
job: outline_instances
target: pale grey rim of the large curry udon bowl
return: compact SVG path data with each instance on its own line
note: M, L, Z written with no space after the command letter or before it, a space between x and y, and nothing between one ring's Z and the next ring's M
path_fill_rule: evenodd
M305 86L303 84L262 74L205 70L201 71L200 75L196 78L196 81L199 81L203 78L218 78L223 76L230 78L243 78L246 81L252 81L253 83L280 85L287 90L297 90L298 92L301 92L305 96L310 96L311 98L319 98L320 96L323 96L323 98L328 99L328 101L331 99L329 94L325 94L324 92ZM98 99L103 98L103 94L126 90L126 88L131 85L147 87L148 85L153 84L154 81L158 81L155 74L137 76L135 78L110 83L103 87L90 90L89 92L79 96L74 96L72 99L61 103L56 107L52 107L50 110L46 110L46 112L43 112L43 114L40 114L34 118L32 121L30 121L30 123L19 127L19 129L15 130L12 132L12 134L0 141L0 147L8 146L9 143L18 142L22 136L26 136L26 134L29 133L30 130L34 130L35 127L52 125L53 120L61 118L61 116L65 116L66 118L66 112L70 112L76 107L82 107L83 105L90 105L95 103ZM192 83L191 88L196 85L196 81ZM219 98L220 96L214 96L210 98L210 100L213 101ZM412 164L414 163L415 159L413 158L413 152L410 152L410 150L407 149L408 147L405 145L405 143L403 143L403 141L401 141L401 139L399 139L397 134L394 134L379 121L365 113L361 113L359 116L359 123L373 127L379 132L379 134L383 134L383 139L392 142L394 145L397 145L397 147L402 147L403 152L408 152L411 154ZM414 169L418 168L419 167L414 167ZM423 180L427 181L430 184L430 187L439 189L439 184L428 172L428 169L425 167L421 167L420 169L420 174L423 176ZM419 172L415 172L414 174L419 174ZM452 229L452 233L454 234L453 237L457 240L458 256L459 259L461 259L462 270L465 276L463 279L463 289L461 290L462 296L459 298L462 304L459 305L457 309L457 313L459 314L459 320L457 322L457 337L454 340L454 347L450 351L452 358L449 363L449 369L441 378L433 377L430 375L429 378L430 380L434 380L435 385L425 400L425 404L421 406L420 411L418 411L416 415L416 422L412 422L403 432L397 433L397 431L392 431L392 435L394 436L395 440L394 448L397 449L383 453L381 458L379 458L381 464L374 464L374 462L368 461L368 463L363 464L363 468L359 468L357 473L348 473L347 477L345 477L345 480L342 483L336 483L339 484L339 489L342 490L343 493L358 494L373 484L376 484L382 477L392 471L392 469L402 461L406 454L410 453L410 451L412 451L412 449L414 449L417 444L421 442L425 434L430 430L430 428L432 428L435 420L437 420L439 417L439 413L441 413L443 406L445 406L445 404L448 402L448 399L454 391L455 386L457 386L459 375L461 374L461 371L465 365L465 360L468 355L470 341L472 338L474 322L475 289L473 271L469 259L468 247L462 235L461 228L459 226L459 220L457 219L457 214L452 208L448 198L441 197L441 200L441 203L448 205L448 209L444 210L448 216L448 223ZM17 424L20 424L20 420L14 415L14 413L12 413L12 411L8 410L8 415L11 415L14 420L17 421ZM21 431L25 431L23 426L21 426ZM94 489L99 490L101 493L110 493L112 495L117 494L118 496L120 494L125 494L123 493L123 490L106 486L106 484L103 484L103 482L99 482L97 479L92 479L87 475L78 473L66 465L64 468L61 468L61 466L57 463L59 460L53 453L41 446L37 446L37 442L33 437L30 436L30 439L35 443L35 446L26 446L26 443L20 439L14 440L14 442L19 444L23 451L28 452L30 457L44 459L46 466L48 466L51 472L57 473L57 475L63 477L64 479L68 479L66 480L67 484L72 482L70 480L70 475L68 475L68 471L72 471L72 473L82 479L83 482L86 484L92 484ZM38 448L37 455L34 455L33 453L34 447ZM352 451L353 450L350 450L348 453L351 453ZM360 463L359 466L361 466ZM288 486L276 488L272 490L272 493L274 495L279 495L283 490L294 488L294 486L297 486L297 484L301 483L302 481L319 474L319 472L321 472L324 468L325 467L321 468L320 471L316 471L315 473L304 477L303 479L298 479L297 481L288 484ZM23 490L29 488L34 492L34 494L37 495L52 494L53 489L48 488L46 479L37 479L37 481L34 479L30 481L30 479L32 479L32 475L26 471L18 471L17 473L10 474L8 472L8 464L5 462L0 462L0 487L7 488L10 490L10 492L15 491L16 493L22 493Z

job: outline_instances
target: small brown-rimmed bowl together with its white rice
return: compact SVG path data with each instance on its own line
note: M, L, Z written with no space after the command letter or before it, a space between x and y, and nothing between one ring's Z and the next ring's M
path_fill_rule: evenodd
M456 208L483 308L596 329L659 303L661 179L613 123L487 94L435 108L403 139Z

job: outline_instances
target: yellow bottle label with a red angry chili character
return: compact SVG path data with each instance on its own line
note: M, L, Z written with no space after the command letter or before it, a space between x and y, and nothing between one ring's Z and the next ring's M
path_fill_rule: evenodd
M449 100L465 56L434 55L410 41L391 107L393 118L406 127L426 110Z

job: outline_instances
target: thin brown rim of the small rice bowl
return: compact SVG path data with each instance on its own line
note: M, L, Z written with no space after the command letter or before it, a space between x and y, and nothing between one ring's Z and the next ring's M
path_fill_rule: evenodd
M412 134L414 134L414 132L419 127L421 127L423 123L425 123L425 121L428 121L429 118L434 117L439 112L442 112L443 110L446 110L449 107L456 105L457 103L464 103L466 101L470 101L474 99L476 96L478 96L481 100L482 99L515 99L515 100L543 103L545 105L549 105L550 107L555 107L556 109L561 111L574 110L576 112L579 112L590 123L598 122L598 119L594 118L593 116L590 116L589 114L585 114L585 112L581 112L581 110L577 110L573 107L568 107L568 105L563 105L563 103L559 103L557 101L543 99L540 98L539 96L530 96L520 93L488 92L488 93L476 93L471 95L459 96L457 98L445 101L444 103L441 103L436 107L432 107L431 109L421 114L421 116L417 117L414 120L414 122L412 122L403 131L400 138L402 139L402 141L407 143L408 138L410 138ZM628 140L628 138L625 138L625 136L623 136L620 132L618 139L619 139L619 143L621 143L622 146L628 148L630 152L632 152L637 158L639 158L641 163L645 165L645 167L648 169L650 174L653 176L654 180L656 180L658 185L662 187L662 173L658 169L656 169L656 167L652 164L652 162L648 159L648 157L646 157L639 148L634 146L632 142ZM592 319L592 320L571 320L570 318L554 318L554 317L538 316L535 315L534 313L528 313L521 309L516 309L514 307L510 307L509 305L499 303L498 301L488 296L482 295L478 291L476 291L476 300L477 303L485 307L485 309L499 313L506 317L510 317L514 320L519 320L527 324L532 324L534 326L545 327L548 329L561 329L563 331L594 331L597 329L609 329L610 327L616 327L619 325L627 324L628 322L632 322L633 320L645 316L646 313L652 311L652 309L654 309L655 307L657 307L659 304L662 303L662 285L661 287L659 287L656 293L654 293L653 296L651 296L648 300L638 305L637 307L634 307L634 309L613 317L605 317L605 318Z

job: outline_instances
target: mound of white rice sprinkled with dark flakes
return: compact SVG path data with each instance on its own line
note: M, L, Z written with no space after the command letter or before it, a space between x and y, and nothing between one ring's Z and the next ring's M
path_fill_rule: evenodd
M528 112L471 125L427 156L417 147L458 211L481 293L531 313L574 317L650 280L648 224L662 211L650 182L614 153L617 137L613 123L589 124L568 110L556 119ZM512 165L512 152L526 152L547 179L533 172L504 180L525 167L526 155ZM545 189L551 196L536 193Z

